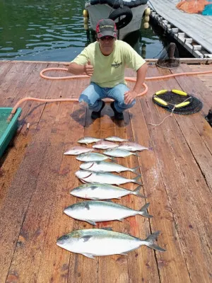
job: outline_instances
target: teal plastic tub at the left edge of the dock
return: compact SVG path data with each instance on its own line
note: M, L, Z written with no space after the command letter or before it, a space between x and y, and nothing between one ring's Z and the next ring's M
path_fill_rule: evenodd
M0 157L4 154L6 147L13 138L18 128L18 117L21 113L21 108L16 110L10 122L7 121L13 108L0 108Z

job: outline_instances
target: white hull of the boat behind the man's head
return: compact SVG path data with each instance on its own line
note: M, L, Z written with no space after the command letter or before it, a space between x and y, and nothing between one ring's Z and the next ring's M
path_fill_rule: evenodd
M119 40L123 40L126 35L141 28L142 16L146 6L146 4L143 4L135 8L131 8L133 18L131 19L131 22L128 25L118 30ZM110 13L114 11L114 9L107 4L90 5L86 8L88 9L90 28L92 30L95 30L98 21L100 21L102 18L108 18Z

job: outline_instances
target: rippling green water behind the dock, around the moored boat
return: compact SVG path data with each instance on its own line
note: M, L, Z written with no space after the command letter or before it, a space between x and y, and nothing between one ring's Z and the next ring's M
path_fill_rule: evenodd
M84 0L0 0L0 60L66 61L89 44L83 28ZM129 44L144 58L167 45L153 29Z

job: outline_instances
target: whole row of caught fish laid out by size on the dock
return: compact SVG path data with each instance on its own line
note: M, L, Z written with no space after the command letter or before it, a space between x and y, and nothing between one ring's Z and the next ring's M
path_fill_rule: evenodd
M120 141L122 144L119 145L113 141ZM125 142L123 143L123 141ZM153 217L147 212L149 203L143 205L140 210L135 210L110 201L110 199L120 199L126 195L136 195L145 198L140 192L142 184L137 180L141 175L129 179L111 174L111 172L120 173L124 171L136 173L139 166L127 168L117 163L105 161L108 158L113 159L114 157L138 156L133 151L151 149L119 137L107 137L105 139L83 137L78 140L80 144L91 144L94 142L93 148L74 146L65 152L65 155L78 155L76 159L85 162L81 164L81 170L76 172L76 176L86 184L71 190L71 195L89 199L90 201L72 204L64 209L64 213L74 219L87 221L92 225L96 225L96 222L100 221L123 221L124 218L135 215L142 215L148 218ZM95 149L106 149L106 151L103 154L92 152ZM115 186L129 182L137 183L139 187L131 191ZM159 231L155 232L145 240L142 240L125 233L112 231L112 229L83 229L61 236L57 240L57 245L73 253L81 253L88 258L94 258L95 255L126 255L127 252L135 250L142 245L158 251L165 251L154 244L159 233Z

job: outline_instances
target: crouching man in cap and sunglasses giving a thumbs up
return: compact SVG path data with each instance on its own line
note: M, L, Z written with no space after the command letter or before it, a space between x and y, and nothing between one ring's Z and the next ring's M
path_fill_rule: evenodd
M69 65L72 74L90 76L90 85L81 93L79 102L88 103L95 120L101 116L105 106L103 98L112 98L110 104L114 118L123 120L123 111L136 103L136 96L146 76L146 61L126 42L117 40L117 28L114 21L102 19L96 26L97 41L86 47ZM133 90L126 86L124 68L136 71L136 83Z

